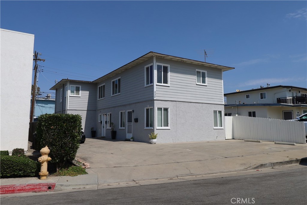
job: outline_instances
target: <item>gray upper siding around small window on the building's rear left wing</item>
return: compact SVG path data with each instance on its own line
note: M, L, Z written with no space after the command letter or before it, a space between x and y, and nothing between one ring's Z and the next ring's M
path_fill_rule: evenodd
M96 85L79 82L71 82L71 85L81 86L81 97L69 96L68 110L96 110Z

